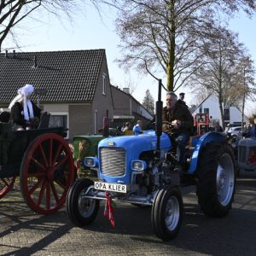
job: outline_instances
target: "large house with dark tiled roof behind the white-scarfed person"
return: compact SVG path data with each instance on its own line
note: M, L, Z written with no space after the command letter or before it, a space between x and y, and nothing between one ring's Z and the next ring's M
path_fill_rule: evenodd
M65 125L68 138L96 133L113 119L113 98L104 49L0 54L0 108L25 84L45 95L32 101L51 113L50 125Z

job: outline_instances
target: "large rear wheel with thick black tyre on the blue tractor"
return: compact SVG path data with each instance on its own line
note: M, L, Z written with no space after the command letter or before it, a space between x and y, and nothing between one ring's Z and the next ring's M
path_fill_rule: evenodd
M210 217L224 217L231 209L235 193L236 164L227 143L209 143L200 154L197 172L198 203Z

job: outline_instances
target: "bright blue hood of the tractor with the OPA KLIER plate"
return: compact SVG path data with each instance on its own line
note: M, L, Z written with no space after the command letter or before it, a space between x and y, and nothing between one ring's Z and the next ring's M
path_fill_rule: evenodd
M99 156L99 177L108 183L131 183L131 162L132 160L139 160L143 152L153 151L157 147L157 137L155 131L145 131L140 135L121 136L121 137L108 137L103 139L98 145L98 156ZM101 152L104 150L105 161L104 170L102 170L102 159ZM115 148L122 148L121 150ZM162 133L160 137L160 157L164 157L166 152L171 148L171 141L168 135ZM108 154L109 152L113 154ZM108 153L106 153L108 152ZM125 162L124 162L125 153ZM118 167L116 163L118 162ZM122 168L119 166L125 165ZM113 176L112 170L118 170L119 174Z

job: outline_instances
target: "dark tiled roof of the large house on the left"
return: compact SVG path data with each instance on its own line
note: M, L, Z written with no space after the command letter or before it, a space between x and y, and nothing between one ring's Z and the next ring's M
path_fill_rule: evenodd
M25 84L47 90L41 102L92 101L104 55L104 49L0 54L0 102L11 102Z

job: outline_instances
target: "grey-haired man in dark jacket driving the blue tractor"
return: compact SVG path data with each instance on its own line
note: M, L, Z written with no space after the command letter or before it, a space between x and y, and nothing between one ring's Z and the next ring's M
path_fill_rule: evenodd
M185 147L189 142L189 134L194 127L194 119L189 109L177 103L177 95L168 91L166 93L166 107L162 113L163 131L171 137L172 143L177 144L177 166L182 170L185 163Z

